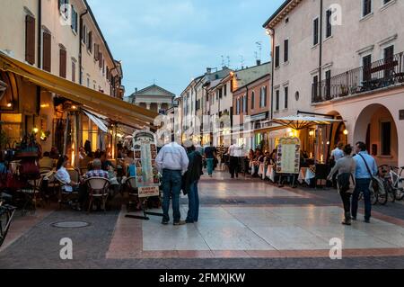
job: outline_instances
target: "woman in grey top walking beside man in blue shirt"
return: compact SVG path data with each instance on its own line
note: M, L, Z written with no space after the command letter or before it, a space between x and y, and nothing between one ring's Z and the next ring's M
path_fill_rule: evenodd
M342 221L344 225L351 225L351 196L355 190L356 162L351 156L352 149L351 145L343 148L344 157L338 159L328 177L330 180L338 172L338 193L341 196L345 211L345 220Z

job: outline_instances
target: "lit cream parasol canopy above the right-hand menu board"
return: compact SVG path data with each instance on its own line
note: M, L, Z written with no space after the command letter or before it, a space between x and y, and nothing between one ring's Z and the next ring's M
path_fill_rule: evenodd
M313 116L292 115L284 118L273 119L271 122L280 124L294 130L303 130L314 125L329 125L342 120L333 120Z

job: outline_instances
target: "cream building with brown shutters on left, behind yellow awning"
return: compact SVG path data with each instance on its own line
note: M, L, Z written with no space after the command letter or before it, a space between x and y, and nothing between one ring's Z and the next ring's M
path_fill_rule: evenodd
M110 52L91 7L85 0L4 0L0 11L0 51L31 67L80 84L111 97L122 98L122 67ZM59 94L0 71L8 87L0 98L0 113L8 142L37 132L44 151L59 150L66 143L63 133L68 112L78 106ZM80 103L79 103L80 104ZM75 119L80 144L89 139L92 148L106 148L105 131L85 114ZM62 151L62 150L60 150Z

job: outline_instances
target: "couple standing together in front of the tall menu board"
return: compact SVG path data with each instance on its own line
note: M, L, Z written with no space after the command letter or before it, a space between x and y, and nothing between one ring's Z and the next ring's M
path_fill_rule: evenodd
M199 196L198 181L202 175L202 155L194 146L188 149L172 141L160 150L155 160L162 173L162 224L170 222L169 209L172 199L174 225L198 222ZM188 194L189 211L187 220L180 220L180 192Z

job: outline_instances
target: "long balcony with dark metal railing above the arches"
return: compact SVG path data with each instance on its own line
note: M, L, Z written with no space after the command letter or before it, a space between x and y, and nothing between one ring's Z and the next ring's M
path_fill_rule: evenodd
M404 52L312 84L312 103L366 93L404 83Z

